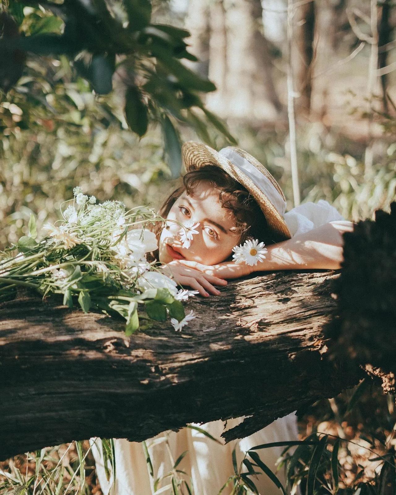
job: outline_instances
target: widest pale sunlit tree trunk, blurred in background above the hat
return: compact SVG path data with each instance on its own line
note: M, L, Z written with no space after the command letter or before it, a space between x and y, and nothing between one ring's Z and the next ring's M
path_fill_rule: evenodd
M209 79L217 91L207 96L208 107L222 117L273 121L281 103L260 0L214 0L209 17ZM191 29L189 19L186 28Z

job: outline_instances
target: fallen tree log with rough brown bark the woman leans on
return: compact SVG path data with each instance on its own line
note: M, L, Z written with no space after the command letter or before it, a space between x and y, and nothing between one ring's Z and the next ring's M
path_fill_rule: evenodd
M0 459L94 436L143 441L187 423L249 416L223 435L355 385L327 359L335 272L278 272L192 298L197 318L123 333L124 320L27 295L0 306Z

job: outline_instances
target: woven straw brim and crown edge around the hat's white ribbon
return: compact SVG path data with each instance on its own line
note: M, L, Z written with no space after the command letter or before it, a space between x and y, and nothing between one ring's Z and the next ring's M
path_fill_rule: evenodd
M248 155L243 150L240 150L239 148L233 149L241 154L241 156L250 157L250 155ZM256 200L265 216L265 219L267 220L268 227L274 232L274 234L276 234L275 242L285 241L292 237L281 213L279 213L272 202L254 184L254 182L229 159L219 154L215 149L210 148L210 146L195 141L187 141L183 144L182 158L187 172L197 170L206 165L215 165L224 170L233 179L242 184ZM276 183L275 179L267 171L267 169L259 162L257 162L255 158L253 158L253 160L255 161L253 165L256 165L260 172L265 173L267 177L270 177L271 182ZM258 167L258 165L260 166ZM277 189L282 193L282 190L279 188L279 186Z

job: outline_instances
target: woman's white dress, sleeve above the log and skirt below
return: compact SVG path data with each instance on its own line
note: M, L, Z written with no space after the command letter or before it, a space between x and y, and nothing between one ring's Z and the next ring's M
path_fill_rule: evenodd
M333 220L343 220L339 212L327 201L320 200L318 203L304 203L285 214L285 221L291 235L298 236L312 230L320 225ZM242 418L228 420L227 428L222 420L211 421L203 425L195 424L204 429L214 438L223 441L220 435L225 429L232 428L242 421ZM179 432L168 432L168 446L161 438L165 433L161 433L146 441L148 452L153 464L153 478L148 472L146 455L143 445L139 442L128 442L125 439L115 439L115 466L116 479L113 484L112 474L108 482L104 472L103 458L101 455L100 440L92 442L92 451L96 461L97 476L101 490L104 495L151 495L154 493L153 479L166 475L171 469L173 462L182 452L188 453L180 462L178 469L181 469L191 476L189 486L194 488L195 495L217 495L228 477L234 473L232 464L232 450L236 447L238 466L245 456L245 452L260 444L270 442L281 442L297 439L297 418L294 413L283 418L279 418L262 430L241 440L220 445L207 438L204 434L191 428L183 428ZM259 451L260 458L272 469L281 483L285 485L283 470L276 470L276 461L284 447L266 448ZM245 469L246 471L246 469ZM111 472L111 469L110 469ZM169 478L165 479L160 487L169 483ZM258 475L254 483L260 495L279 495L280 491L273 482L265 475ZM229 486L222 494L228 495L231 492ZM161 492L163 495L172 494L172 489Z

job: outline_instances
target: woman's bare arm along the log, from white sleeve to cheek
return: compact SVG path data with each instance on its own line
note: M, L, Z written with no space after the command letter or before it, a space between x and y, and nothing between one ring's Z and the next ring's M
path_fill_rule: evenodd
M223 279L244 277L260 271L312 270L315 268L337 270L343 261L342 235L352 230L353 223L347 220L326 223L295 238L267 246L266 258L253 266L234 261L226 261L213 266L187 260L179 260L179 262Z

